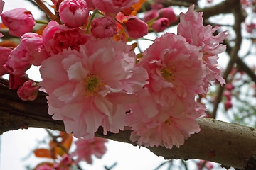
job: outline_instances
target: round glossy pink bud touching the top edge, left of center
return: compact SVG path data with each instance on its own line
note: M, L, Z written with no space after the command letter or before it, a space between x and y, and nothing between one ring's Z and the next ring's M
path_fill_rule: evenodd
M63 23L75 28L87 22L89 8L84 0L64 0L60 3L59 13Z

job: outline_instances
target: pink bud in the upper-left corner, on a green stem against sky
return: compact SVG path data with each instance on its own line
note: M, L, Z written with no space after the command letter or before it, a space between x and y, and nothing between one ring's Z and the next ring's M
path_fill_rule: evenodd
M5 11L1 14L1 19L4 25L9 28L9 33L16 37L30 32L36 24L31 12L27 11L26 8Z

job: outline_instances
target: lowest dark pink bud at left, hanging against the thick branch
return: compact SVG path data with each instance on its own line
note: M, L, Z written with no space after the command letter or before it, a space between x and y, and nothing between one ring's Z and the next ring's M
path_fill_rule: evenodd
M18 88L17 94L23 101L33 101L37 97L38 89L38 84L32 80L28 80Z

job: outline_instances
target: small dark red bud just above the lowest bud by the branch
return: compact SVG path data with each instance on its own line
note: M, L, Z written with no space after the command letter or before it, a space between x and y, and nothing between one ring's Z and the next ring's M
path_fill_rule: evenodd
M9 75L9 88L16 90L22 84L24 84L28 80L28 74L24 73L21 76L16 76L14 74Z

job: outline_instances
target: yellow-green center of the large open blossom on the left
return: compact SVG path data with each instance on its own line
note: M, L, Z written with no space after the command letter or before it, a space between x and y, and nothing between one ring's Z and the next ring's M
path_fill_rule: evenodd
M100 89L100 86L102 86L103 84L99 81L99 79L97 78L97 76L95 75L88 75L85 78L85 86L86 86L86 95L87 96L95 96L97 94L97 92Z

